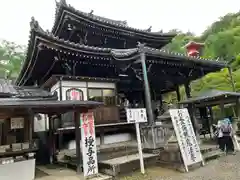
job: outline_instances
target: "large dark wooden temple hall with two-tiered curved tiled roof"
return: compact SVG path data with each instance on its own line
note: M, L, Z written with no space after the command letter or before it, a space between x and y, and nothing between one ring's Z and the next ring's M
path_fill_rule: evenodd
M27 56L16 86L39 87L54 93L59 101L102 102L94 109L99 148L135 139L126 107L146 107L147 126L152 127L154 110L163 104L162 94L176 91L179 97L179 86L185 85L190 97L191 81L225 67L215 60L161 49L174 34L135 29L126 21L76 10L65 0L56 3L51 31L44 31L34 18L30 26ZM51 129L46 125L49 118L35 116L35 137L39 141L53 138L52 160L59 159L61 152L66 155L73 150L71 157L76 154L72 113L56 116ZM49 151L46 147L42 153ZM105 154L103 159L107 158Z

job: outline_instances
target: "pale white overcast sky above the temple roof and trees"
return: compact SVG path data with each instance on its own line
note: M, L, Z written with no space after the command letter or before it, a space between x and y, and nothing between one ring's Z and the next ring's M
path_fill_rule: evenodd
M152 31L171 29L200 35L227 13L239 11L240 0L66 0L75 9L127 20L128 25ZM0 39L27 45L29 22L34 16L44 30L51 30L55 0L0 0Z

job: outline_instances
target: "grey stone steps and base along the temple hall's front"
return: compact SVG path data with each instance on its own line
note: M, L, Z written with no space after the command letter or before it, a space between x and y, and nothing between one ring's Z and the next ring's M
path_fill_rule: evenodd
M223 155L216 145L201 145L201 152L205 163L219 158ZM179 147L176 143L170 143L165 149L154 153L143 151L145 168L155 165L184 171ZM139 155L136 142L116 143L98 147L99 172L113 177L121 174L131 173L140 169ZM76 167L76 156L74 153L64 155L64 163L68 167ZM199 168L197 163L189 170Z

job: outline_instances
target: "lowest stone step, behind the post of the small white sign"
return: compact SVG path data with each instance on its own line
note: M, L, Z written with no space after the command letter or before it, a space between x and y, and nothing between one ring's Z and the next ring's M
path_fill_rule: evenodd
M157 154L143 153L145 167L156 164ZM109 160L99 161L101 173L116 177L121 174L130 173L140 169L138 153L129 156L121 156Z

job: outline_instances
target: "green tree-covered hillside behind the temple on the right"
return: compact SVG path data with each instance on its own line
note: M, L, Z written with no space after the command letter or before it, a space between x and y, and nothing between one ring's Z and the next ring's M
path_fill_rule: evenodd
M183 46L190 40L205 43L202 56L231 64L236 90L240 91L240 12L229 13L220 17L201 36L194 36L194 34L177 30L175 32L178 32L178 35L173 39L172 43L165 47L166 49L186 53ZM184 95L184 88L181 87L180 89L181 94ZM228 70L223 69L217 73L210 73L192 82L191 89L193 96L210 89L232 91ZM171 99L172 103L176 99L176 94L170 93L165 96L165 99Z

